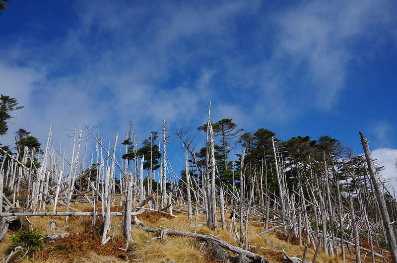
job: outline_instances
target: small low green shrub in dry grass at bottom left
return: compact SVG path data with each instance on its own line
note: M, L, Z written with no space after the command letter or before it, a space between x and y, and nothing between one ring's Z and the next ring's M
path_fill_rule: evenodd
M42 250L43 239L40 233L32 231L18 231L14 236L11 236L12 246L11 249L22 247L22 250L27 255L33 256L36 250Z

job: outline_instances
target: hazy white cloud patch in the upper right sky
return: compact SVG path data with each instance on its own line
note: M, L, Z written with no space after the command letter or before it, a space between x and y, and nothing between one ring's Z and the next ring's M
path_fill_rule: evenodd
M360 42L371 39L377 43L379 35L393 32L389 23L396 18L390 4L389 1L313 1L273 15L279 32L272 60L274 64L287 60L290 69L302 72L295 78L307 78L306 87L293 86L295 91L307 91L308 99L300 99L313 100L317 108L331 110L345 88L348 64L376 52L376 49L363 49Z

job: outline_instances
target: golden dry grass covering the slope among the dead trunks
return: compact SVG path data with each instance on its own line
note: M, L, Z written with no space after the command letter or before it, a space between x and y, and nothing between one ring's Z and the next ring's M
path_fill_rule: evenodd
M72 207L78 211L92 211L91 204L72 204ZM100 207L100 205L99 205ZM47 205L45 211L52 211L53 207L51 205ZM57 206L57 211L66 211L66 207ZM121 207L115 205L112 207L112 211L121 211ZM157 212L144 212L143 214L138 215L138 219L141 220L147 227L151 228L169 228L179 231L187 231L187 232L196 232L203 235L214 235L225 242L237 246L235 240L232 235L229 233L229 228L227 230L222 230L220 227L217 232L209 229L206 225L194 224L192 221L194 219L188 219L188 216L183 213L176 213L177 218L167 216L165 214L159 214ZM57 242L66 242L70 245L67 249L72 251L70 254L65 255L62 253L55 253L54 247L56 244L53 243L46 245L46 252L36 255L36 262L39 263L71 263L71 262L97 262L97 263L113 263L113 262L124 262L124 260L136 261L136 262L168 262L169 259L175 259L177 262L205 262L205 258L203 254L205 251L202 249L202 242L195 240L193 238L187 237L179 237L179 236L166 236L164 239L155 239L156 234L146 232L141 229L132 228L132 239L133 243L131 244L129 250L123 252L119 250L119 247L125 248L124 243L120 243L122 237L121 232L121 218L112 217L111 225L112 229L110 235L113 232L113 226L116 225L116 229L114 230L114 236L118 239L119 243L117 243L117 248L110 245L107 248L100 245L100 235L98 231L99 227L96 228L96 237L93 237L91 234L90 237L84 236L87 235L87 231L91 230L91 217L69 217L67 227L64 227L65 218L64 217L50 217L50 216L33 216L29 217L29 220L33 224L33 230L41 232L43 235L46 234L57 234L63 232L70 233L80 233L80 236L74 235L69 239L60 240ZM51 220L56 220L58 228L51 231L49 230L49 222ZM115 222L116 220L116 222ZM196 222L205 222L205 214L200 214L197 218ZM251 218L250 220L258 221L258 218ZM98 225L101 223L101 219L97 218ZM229 225L227 224L229 227ZM244 224L245 226L245 224ZM238 226L237 226L238 227ZM263 231L263 224L253 223L248 227L248 235L249 235L249 244L253 246L257 246L260 248L253 248L252 251L258 253L265 258L267 258L270 262L281 262L283 254L281 253L284 250L291 257L302 258L303 255L303 246L298 246L294 244L287 243L285 241L285 237L281 233L282 231L276 230L272 233L268 233L262 236L256 236L256 234ZM0 258L6 258L9 254L8 246L11 244L10 236L13 234L12 231L8 231L4 239L0 242ZM238 230L239 232L239 230ZM85 234L84 234L85 233ZM85 238L85 240L83 240ZM79 243L80 242L80 243ZM91 242L90 244L86 243ZM124 242L124 241L123 241ZM73 246L71 244L74 244ZM79 245L80 244L80 245ZM116 244L116 243L115 243ZM82 248L87 246L87 248L95 248L90 252L79 253L78 248ZM115 245L116 246L116 245ZM263 249L261 249L263 248ZM117 253L116 253L117 251ZM62 251L61 251L62 252ZM67 253L67 250L64 251ZM119 253L119 254L118 254ZM313 259L315 251L313 248L308 249L308 260ZM122 257L120 255L123 254ZM120 258L117 258L119 256ZM354 258L354 255L348 255L348 251L346 250L346 260L349 258ZM364 259L364 255L362 257ZM339 257L331 257L325 255L324 251L320 249L318 253L317 262L323 263L340 263L342 262ZM366 262L370 261L370 255L367 255ZM20 261L22 263L30 262L29 259L23 259ZM377 260L378 262L378 260ZM379 261L381 262L381 261Z

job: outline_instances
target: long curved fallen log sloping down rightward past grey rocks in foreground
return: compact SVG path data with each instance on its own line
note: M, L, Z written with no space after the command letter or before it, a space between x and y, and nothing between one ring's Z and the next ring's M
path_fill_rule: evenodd
M136 225L132 225L132 226L135 228L143 229L148 232L152 232L152 233L160 231L160 228L150 228L150 227L142 227L142 226L136 226ZM258 254L255 254L253 252L233 246L233 245L226 243L225 241L218 239L218 238L208 237L208 236L200 235L197 233L178 231L178 230L170 230L170 229L164 229L164 233L167 235L171 235L171 236L187 236L187 237L193 237L193 238L196 238L199 240L213 241L213 242L218 243L219 246L221 246L222 248L225 248L233 253L237 253L237 254L245 253L248 258L255 260L255 262L269 263L269 261L266 258L264 258Z

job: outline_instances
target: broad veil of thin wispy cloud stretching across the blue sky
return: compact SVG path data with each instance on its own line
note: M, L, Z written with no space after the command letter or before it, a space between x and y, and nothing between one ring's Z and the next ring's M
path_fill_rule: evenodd
M26 106L10 130L44 141L54 122L59 141L87 123L113 139L132 120L146 137L163 118L202 124L209 101L247 129L288 123L336 108L349 66L396 36L386 0L105 3L72 2L57 34L42 39L39 20L0 47L1 93Z

